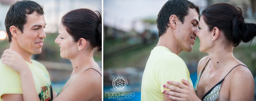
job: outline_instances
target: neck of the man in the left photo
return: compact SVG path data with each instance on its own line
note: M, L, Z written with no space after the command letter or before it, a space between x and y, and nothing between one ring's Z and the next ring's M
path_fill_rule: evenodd
M27 51L24 51L23 49L21 49L18 44L15 44L13 42L11 42L11 45L10 45L10 49L13 50L13 51L16 51L18 52L22 57L23 59L28 62L28 63L32 63L31 62L31 56L32 54L30 52L27 52Z

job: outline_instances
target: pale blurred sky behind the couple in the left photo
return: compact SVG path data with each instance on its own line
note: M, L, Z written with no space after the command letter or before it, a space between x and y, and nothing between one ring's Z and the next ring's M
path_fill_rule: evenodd
M44 7L45 32L57 32L61 17L72 9L88 8L102 12L102 0L32 0ZM0 4L0 30L5 31L4 20L11 5Z

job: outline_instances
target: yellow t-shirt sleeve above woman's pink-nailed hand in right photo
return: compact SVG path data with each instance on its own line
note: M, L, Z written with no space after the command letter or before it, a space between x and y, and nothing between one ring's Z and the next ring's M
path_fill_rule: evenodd
M187 66L181 58L172 58L171 56L164 56L156 63L157 79L159 80L159 86L161 93L164 90L170 90L164 88L163 85L168 85L167 81L181 82L182 79L190 80L187 73Z

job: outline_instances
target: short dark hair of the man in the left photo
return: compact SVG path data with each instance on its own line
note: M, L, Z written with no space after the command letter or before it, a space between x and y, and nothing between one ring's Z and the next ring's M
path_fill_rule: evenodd
M35 11L40 15L44 14L43 7L34 1L16 1L16 3L11 5L5 17L5 29L8 34L8 42L12 41L10 27L15 26L23 33L24 25L27 23L26 14L32 14Z

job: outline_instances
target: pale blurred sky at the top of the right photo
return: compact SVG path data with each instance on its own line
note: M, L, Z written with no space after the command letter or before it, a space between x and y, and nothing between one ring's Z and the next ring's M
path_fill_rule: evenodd
M189 0L204 9L206 0ZM157 18L158 12L166 0L104 0L104 25L124 31L135 28L142 32L141 19ZM157 30L155 27L154 30Z

